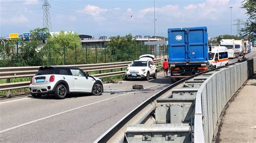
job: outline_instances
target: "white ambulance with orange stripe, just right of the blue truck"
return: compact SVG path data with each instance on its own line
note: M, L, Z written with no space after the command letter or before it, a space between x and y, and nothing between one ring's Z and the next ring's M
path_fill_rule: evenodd
M225 46L213 46L209 54L210 68L228 65L228 53Z

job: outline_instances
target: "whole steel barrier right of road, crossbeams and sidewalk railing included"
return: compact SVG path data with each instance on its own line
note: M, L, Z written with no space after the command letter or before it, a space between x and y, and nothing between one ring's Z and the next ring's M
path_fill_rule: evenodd
M212 142L221 111L255 70L256 58L184 78L137 106L94 142Z

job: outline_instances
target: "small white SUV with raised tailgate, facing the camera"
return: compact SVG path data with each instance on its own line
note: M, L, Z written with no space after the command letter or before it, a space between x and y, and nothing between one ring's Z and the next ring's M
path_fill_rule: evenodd
M157 68L153 62L153 55L141 55L139 60L133 61L125 71L125 80L143 78L149 80L150 76L157 78Z

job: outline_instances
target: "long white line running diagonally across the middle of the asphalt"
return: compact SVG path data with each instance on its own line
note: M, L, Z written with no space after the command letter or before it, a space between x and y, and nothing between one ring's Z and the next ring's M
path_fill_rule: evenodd
M157 84L157 85L159 85L159 84ZM145 88L145 89L149 89L149 88L152 88L152 87L156 87L157 85L152 85L151 87L147 87L147 88ZM143 90L143 89L141 89L141 90ZM140 90L137 90L137 91L140 91ZM135 92L135 91L134 91L134 92ZM59 113L56 113L56 114L53 114L53 115L50 115L50 116L47 116L47 117L43 117L43 118L40 118L40 119L32 120L32 121L29 121L29 122L24 123L24 124L21 124L21 125L17 125L17 126L14 126L14 127L6 128L5 130L1 130L0 133L4 133L4 132L10 131L10 130L14 130L15 128L18 128L18 127L22 127L22 126L25 126L25 125L29 125L29 124L35 123L35 122L37 122L37 121L41 121L41 120L44 120L44 119L48 119L48 118L51 118L51 117L55 117L55 116L61 115L61 114L63 114L63 113L70 112L70 111L73 111L73 110L77 110L77 109L80 109L80 108L84 108L84 107L86 107L86 106L90 106L90 105L93 105L93 104L96 104L96 103L100 103L100 102L104 102L104 101L109 101L110 99L113 99L113 98L117 98L117 97L124 96L124 95L128 95L128 94L132 94L132 93L134 93L134 92L129 92L129 93L126 93L126 94L114 96L114 97L111 97L111 98L104 99L104 100L102 100L102 101L97 101L97 102L94 102L94 103L90 103L90 104L86 104L86 105L83 105L83 106L79 106L79 107L77 107L77 108L73 108L73 109L70 109L70 110L66 110L66 111L63 111L63 112L59 112Z

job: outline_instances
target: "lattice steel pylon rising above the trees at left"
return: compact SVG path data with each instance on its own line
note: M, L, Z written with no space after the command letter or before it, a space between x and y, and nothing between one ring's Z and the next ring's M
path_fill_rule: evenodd
M48 32L51 32L51 18L50 18L50 7L48 0L42 0L44 3L42 5L42 9L44 10L43 16L43 27L48 28Z

